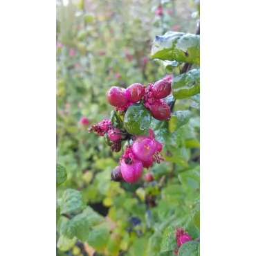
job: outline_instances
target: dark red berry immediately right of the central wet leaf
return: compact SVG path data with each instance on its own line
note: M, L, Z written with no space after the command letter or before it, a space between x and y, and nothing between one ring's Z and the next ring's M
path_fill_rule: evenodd
M165 100L156 100L149 110L152 113L153 118L159 121L168 120L171 116L171 110Z

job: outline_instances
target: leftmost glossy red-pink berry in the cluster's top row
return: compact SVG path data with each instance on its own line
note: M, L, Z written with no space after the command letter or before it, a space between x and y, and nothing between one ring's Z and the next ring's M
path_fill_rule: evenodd
M107 100L109 100L109 104L113 107L124 107L127 104L125 89L112 86L107 92Z

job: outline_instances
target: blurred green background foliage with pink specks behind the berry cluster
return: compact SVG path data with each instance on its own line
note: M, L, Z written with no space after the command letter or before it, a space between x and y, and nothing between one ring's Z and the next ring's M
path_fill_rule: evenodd
M111 170L122 152L112 153L102 137L87 129L110 118L113 108L106 91L111 86L127 88L135 82L147 86L167 75L149 60L152 42L169 30L194 33L199 18L196 1L57 1L55 17L56 161L67 172L56 198L61 201L67 189L80 191L84 205L104 218L102 228L107 230L100 232L104 238L95 232L86 243L76 239L60 243L66 220L62 216L56 227L56 255L150 256L159 250L161 255L174 255L170 232L175 225L187 227L193 239L199 236L187 217L200 188L198 118L183 126L183 134L193 134L185 147L175 148L177 140L167 143L167 161L152 168L156 181L147 184L111 182ZM175 108L190 105L190 100L179 100ZM200 115L196 109L193 113ZM188 170L194 175L186 176Z

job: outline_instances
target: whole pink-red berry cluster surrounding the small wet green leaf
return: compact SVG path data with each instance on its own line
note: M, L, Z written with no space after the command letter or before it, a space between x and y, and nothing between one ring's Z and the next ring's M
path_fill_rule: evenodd
M127 89L113 86L107 91L107 100L115 107L119 116L122 116L131 105L140 102L151 111L154 118L163 121L168 120L171 115L170 107L163 100L171 92L172 79L168 77L149 84L148 88L138 83L131 84ZM163 145L156 140L152 129L147 130L148 136L132 136L122 126L118 126L119 129L114 127L111 120L102 120L98 125L93 125L89 132L94 131L98 136L104 136L112 152L120 152L122 141L127 140L128 145L120 158L120 165L112 171L111 180L135 183L140 179L143 167L149 170L154 163L164 161L161 154ZM149 174L145 176L145 181L153 180Z

